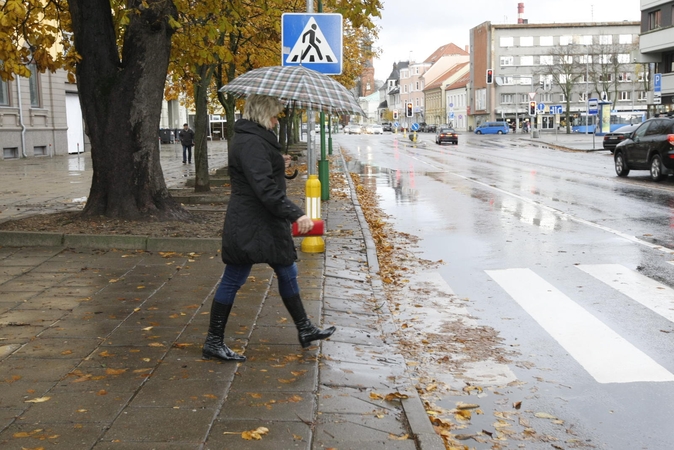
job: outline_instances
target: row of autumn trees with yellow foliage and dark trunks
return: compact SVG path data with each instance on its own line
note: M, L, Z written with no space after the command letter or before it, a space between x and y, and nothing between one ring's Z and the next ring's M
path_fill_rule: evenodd
M357 39L375 29L379 0L326 0ZM280 63L283 12L298 0L5 0L0 2L0 77L66 68L77 82L94 175L83 214L185 219L168 193L157 128L167 79L197 112L198 189L208 190L209 92L248 70ZM349 53L352 49L355 53ZM345 40L347 87L364 61ZM351 72L353 69L353 72ZM217 79L214 83L213 78ZM178 82L179 80L179 82ZM221 97L232 134L236 99Z

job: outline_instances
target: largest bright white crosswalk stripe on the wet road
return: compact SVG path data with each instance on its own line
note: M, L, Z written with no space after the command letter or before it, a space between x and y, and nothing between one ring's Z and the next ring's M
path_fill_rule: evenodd
M530 269L487 270L599 383L674 381L674 375Z

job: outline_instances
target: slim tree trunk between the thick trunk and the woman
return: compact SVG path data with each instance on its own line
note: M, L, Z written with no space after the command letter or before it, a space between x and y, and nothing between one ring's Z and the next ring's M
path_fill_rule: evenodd
M199 80L194 83L194 168L196 180L195 192L211 190L208 176L208 87L211 84L213 68L209 65L197 67Z

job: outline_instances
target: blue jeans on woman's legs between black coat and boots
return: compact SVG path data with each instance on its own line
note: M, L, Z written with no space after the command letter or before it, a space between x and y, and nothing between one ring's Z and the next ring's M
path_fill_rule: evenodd
M252 268L252 264L227 264L213 300L224 305L233 304L236 293L248 279ZM297 284L297 265L295 263L289 266L274 265L271 268L274 269L278 278L278 290L281 298L300 295L300 286Z

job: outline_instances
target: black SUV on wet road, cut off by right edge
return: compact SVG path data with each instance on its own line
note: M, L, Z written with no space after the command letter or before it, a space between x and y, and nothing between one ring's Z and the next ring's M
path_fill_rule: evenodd
M616 146L613 160L619 177L630 170L650 170L653 181L674 174L674 118L649 119L639 125Z

